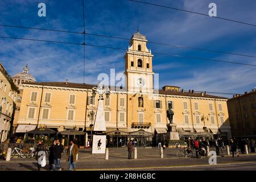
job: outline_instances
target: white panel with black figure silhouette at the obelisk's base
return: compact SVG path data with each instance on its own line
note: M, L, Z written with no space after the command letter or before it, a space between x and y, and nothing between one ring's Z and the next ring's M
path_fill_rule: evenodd
M106 135L93 135L92 154L105 154Z

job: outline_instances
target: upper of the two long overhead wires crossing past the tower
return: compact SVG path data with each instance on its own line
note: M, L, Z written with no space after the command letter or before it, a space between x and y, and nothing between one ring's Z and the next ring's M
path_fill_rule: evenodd
M85 35L89 35L89 36L98 36L98 37L112 38L112 39L119 39L119 40L130 40L130 39L128 39L128 38L121 38L121 37L118 37L118 36L109 36L109 35L102 35L102 34L89 34L89 33L86 33L85 31L84 31L84 32L74 32L74 31L54 30L54 29L47 29L47 28L34 28L34 27L12 26L12 25L7 25L7 24L0 24L0 26L3 26L3 27L13 27L13 28L26 28L26 29L32 29L32 30L65 32L65 33L80 34L80 35L84 34L84 37L85 37ZM84 38L84 39L85 39L85 38ZM85 42L85 41L84 41L84 42ZM195 49L195 50L200 50L200 51L208 51L208 52L224 53L224 54L228 54L228 55L236 55L236 56L244 56L244 57L253 57L253 58L256 58L256 56L253 56L253 55L245 55L245 54L242 54L242 53L217 51L217 50L213 50L213 49L205 49L205 48L190 47L190 46L181 46L181 45L168 44L168 43L160 43L160 42L150 42L150 41L148 41L148 43L151 43L151 44L158 44L158 45L162 45L162 46L172 46L172 47L177 47L177 48Z

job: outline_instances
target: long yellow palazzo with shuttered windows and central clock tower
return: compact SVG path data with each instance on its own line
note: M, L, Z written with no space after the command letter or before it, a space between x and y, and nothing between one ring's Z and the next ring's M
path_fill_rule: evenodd
M152 53L147 40L137 31L125 53L125 88L112 87L104 98L106 135L110 146L124 145L134 139L151 145L167 133L167 109L174 111L180 137L192 135L231 137L227 98L184 92L177 86L154 88ZM91 134L98 96L96 85L70 82L23 83L19 125L44 125L58 131L85 130ZM104 96L105 97L105 96Z

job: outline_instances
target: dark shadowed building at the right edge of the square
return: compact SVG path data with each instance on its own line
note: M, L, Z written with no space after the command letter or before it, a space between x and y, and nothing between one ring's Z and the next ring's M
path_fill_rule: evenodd
M228 110L234 137L256 137L256 89L234 95Z

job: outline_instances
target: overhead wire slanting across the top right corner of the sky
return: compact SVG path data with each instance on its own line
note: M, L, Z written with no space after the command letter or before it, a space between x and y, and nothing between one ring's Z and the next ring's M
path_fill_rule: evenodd
M186 12L186 13L193 13L193 14L197 14L197 15L203 15L203 16L208 16L208 17L210 17L208 14L198 13L198 12L189 11L189 10L183 10L183 9L179 9L179 8L171 7L171 6L157 5L157 4L154 4L154 3L142 2L142 1L136 1L136 0L128 0L128 1L137 2L137 3L143 3L143 4L146 4L146 5L164 7L164 8L167 8L167 9L178 10L178 11L183 11L183 12ZM249 26L254 26L254 27L256 27L256 24L245 23L245 22L241 22L241 21L238 21L238 20L223 18L223 17L220 17L220 16L212 16L212 17L210 17L210 18L217 18L217 19L222 19L222 20L226 20L226 21L229 21L229 22L236 22L236 23L241 23L241 24L246 24L246 25L249 25Z

